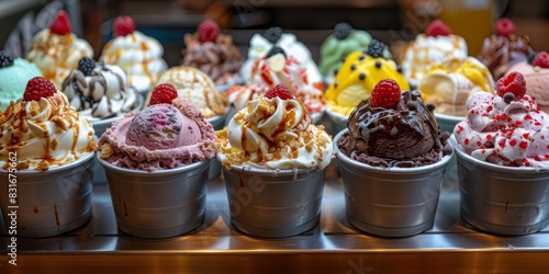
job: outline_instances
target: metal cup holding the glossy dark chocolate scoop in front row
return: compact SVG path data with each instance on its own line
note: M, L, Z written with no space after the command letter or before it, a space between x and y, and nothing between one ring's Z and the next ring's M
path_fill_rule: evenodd
M407 237L433 227L440 186L451 156L417 168L379 168L344 155L334 138L345 190L347 220L361 231Z

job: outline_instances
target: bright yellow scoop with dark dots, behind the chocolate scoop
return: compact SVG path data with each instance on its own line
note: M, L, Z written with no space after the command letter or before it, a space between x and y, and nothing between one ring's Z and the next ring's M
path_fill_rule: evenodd
M373 87L383 79L393 79L401 90L410 90L393 60L355 52L347 56L324 94L326 104L332 111L348 116L360 101L370 98Z

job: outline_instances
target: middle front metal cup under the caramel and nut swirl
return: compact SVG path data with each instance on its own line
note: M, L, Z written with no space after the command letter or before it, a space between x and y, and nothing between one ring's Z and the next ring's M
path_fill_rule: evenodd
M320 220L326 169L223 167L231 222L262 238L291 237Z

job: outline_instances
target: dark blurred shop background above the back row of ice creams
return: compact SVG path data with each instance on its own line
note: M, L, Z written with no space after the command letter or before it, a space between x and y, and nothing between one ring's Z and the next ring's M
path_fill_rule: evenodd
M74 32L94 47L96 57L112 35L112 22L128 14L137 28L159 39L165 59L178 65L183 35L205 18L214 19L244 56L249 38L270 26L295 33L318 60L320 45L333 26L346 21L399 53L434 19L442 19L466 38L475 56L497 18L514 20L537 50L549 49L549 1L546 0L0 0L0 45L14 56L27 50L32 36L65 9Z

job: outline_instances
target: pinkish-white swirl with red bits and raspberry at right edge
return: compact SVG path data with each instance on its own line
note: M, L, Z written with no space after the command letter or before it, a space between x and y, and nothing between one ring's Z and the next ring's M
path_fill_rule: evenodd
M525 87L514 72L497 81L497 94L473 93L467 119L453 129L459 149L500 165L549 169L549 115Z

